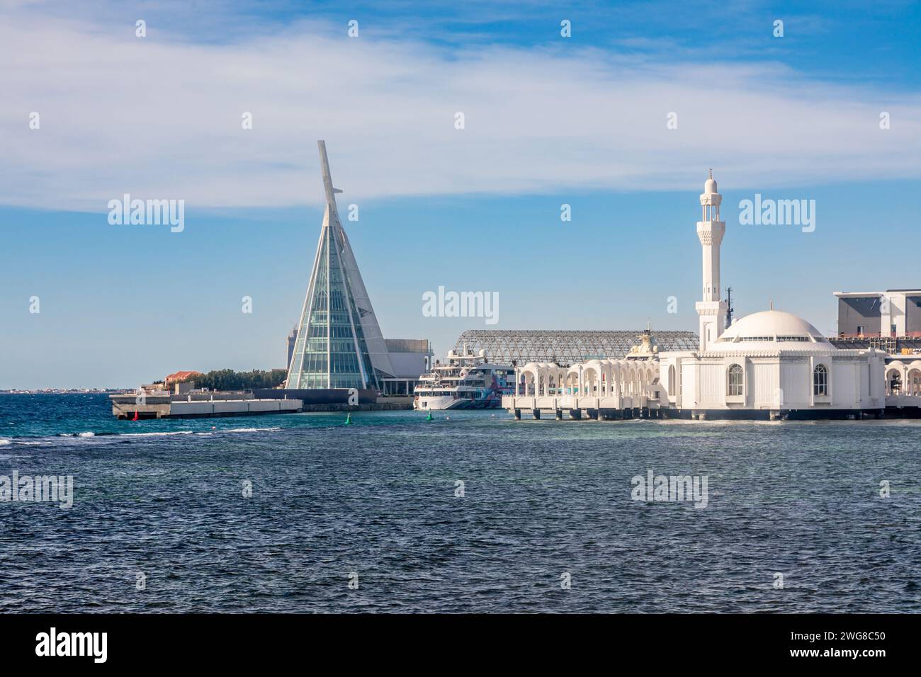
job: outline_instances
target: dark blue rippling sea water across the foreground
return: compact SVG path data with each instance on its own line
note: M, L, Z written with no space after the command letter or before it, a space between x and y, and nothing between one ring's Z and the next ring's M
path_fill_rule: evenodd
M110 411L0 395L0 475L76 482L0 503L0 612L921 611L915 422ZM648 469L707 507L634 501Z

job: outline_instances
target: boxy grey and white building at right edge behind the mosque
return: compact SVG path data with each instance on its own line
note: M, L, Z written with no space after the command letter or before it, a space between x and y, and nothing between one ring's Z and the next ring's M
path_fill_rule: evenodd
M838 336L921 338L921 290L836 291Z

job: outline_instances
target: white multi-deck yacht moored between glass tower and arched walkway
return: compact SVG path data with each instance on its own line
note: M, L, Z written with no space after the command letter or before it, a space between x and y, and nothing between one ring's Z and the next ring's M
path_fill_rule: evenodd
M515 393L515 368L494 365L486 351L478 355L463 346L453 350L445 364L436 362L419 378L415 387L414 409L492 409L502 406L502 396Z

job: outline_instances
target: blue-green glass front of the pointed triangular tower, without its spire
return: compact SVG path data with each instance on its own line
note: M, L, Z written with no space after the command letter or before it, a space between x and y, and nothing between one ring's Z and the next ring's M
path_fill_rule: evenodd
M378 388L352 282L346 274L341 227L324 219L319 255L297 326L287 388Z

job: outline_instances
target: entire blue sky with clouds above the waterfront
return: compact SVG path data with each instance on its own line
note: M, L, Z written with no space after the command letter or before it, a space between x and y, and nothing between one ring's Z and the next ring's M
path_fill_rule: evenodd
M921 285L921 5L382 5L0 0L0 389L284 367L318 139L383 333L438 355L695 331L709 168L737 316L834 334L834 291ZM184 201L181 231L111 223L124 194ZM756 194L814 230L741 223ZM439 286L497 323L426 317Z

